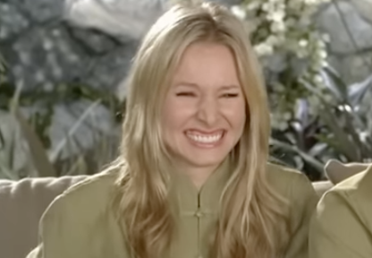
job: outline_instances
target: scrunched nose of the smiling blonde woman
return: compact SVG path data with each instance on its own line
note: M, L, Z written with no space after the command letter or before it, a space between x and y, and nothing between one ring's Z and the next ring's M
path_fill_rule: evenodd
M199 101L198 119L208 127L213 127L217 123L219 114L217 102L212 96L205 96Z

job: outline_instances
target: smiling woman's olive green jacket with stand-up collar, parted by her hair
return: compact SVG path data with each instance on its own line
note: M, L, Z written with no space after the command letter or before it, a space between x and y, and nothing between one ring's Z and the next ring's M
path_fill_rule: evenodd
M171 204L180 211L176 218L179 234L166 257L207 257L208 233L216 225L228 170L217 169L200 191L186 176L174 179ZM309 219L317 194L308 178L297 171L269 165L267 176L290 202L292 238L285 258L307 258ZM41 219L40 244L28 258L130 258L123 228L109 205L115 178L112 173L92 176L56 198Z

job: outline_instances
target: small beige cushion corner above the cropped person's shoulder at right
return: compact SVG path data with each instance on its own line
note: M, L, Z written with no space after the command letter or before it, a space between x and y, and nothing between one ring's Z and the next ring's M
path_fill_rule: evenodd
M330 159L325 164L325 175L334 184L338 184L350 176L354 176L368 168L368 163L342 163L337 159Z

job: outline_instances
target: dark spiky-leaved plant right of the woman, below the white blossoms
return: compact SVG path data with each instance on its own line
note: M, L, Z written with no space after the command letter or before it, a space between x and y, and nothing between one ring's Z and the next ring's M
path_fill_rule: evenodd
M312 174L314 180L322 178L328 159L372 159L372 75L351 85L329 67L321 76L332 101L303 81L312 95L298 101L296 117L285 130L275 130L271 141L275 157Z

